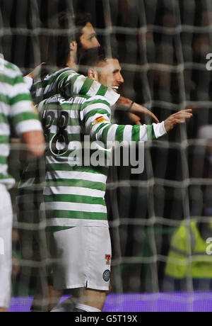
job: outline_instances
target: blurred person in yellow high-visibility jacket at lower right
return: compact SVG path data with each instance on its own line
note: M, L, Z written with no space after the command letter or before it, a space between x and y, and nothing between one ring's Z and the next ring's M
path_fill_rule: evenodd
M212 246L207 243L210 237L212 223L182 222L172 236L164 291L212 289Z

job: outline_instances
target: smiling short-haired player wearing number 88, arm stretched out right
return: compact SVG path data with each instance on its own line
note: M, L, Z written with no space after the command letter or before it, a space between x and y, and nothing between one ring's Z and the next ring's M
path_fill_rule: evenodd
M124 79L115 55L94 48L85 52L81 64L88 67L88 77L113 86L118 93ZM191 110L184 110L158 124L114 125L110 120L110 104L118 98L116 94L113 101L107 100L107 94L76 95L71 99L52 96L38 107L49 144L42 209L47 216L52 255L59 259L52 266L54 286L58 290L74 290L78 299L75 311L101 311L110 285L112 254L105 205L107 167L70 165L71 149L66 147L65 137L61 137L64 135L61 126L69 145L80 141L83 135L105 144L115 140L139 142L165 135L175 124L192 117ZM57 144L53 141L55 137ZM64 311L64 308L59 305L53 311Z

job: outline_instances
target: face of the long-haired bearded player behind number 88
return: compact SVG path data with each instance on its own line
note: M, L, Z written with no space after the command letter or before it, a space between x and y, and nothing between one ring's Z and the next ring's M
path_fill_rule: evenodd
M80 40L83 50L92 49L93 47L100 47L100 43L98 42L95 30L91 23L86 23Z

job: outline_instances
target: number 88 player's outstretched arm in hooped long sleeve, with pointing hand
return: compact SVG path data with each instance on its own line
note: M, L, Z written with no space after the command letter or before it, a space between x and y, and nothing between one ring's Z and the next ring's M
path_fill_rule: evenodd
M107 101L88 101L83 104L81 120L94 140L107 142L147 141L165 135L177 123L192 118L192 110L182 110L172 114L162 123L152 125L117 125L111 123L110 105Z

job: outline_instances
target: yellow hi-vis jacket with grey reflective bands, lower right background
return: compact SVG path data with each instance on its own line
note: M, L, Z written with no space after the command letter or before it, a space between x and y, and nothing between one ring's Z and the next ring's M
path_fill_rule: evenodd
M211 229L212 237L212 229ZM202 239L196 221L187 221L172 236L165 275L175 279L212 279L212 255L206 253L208 243Z

